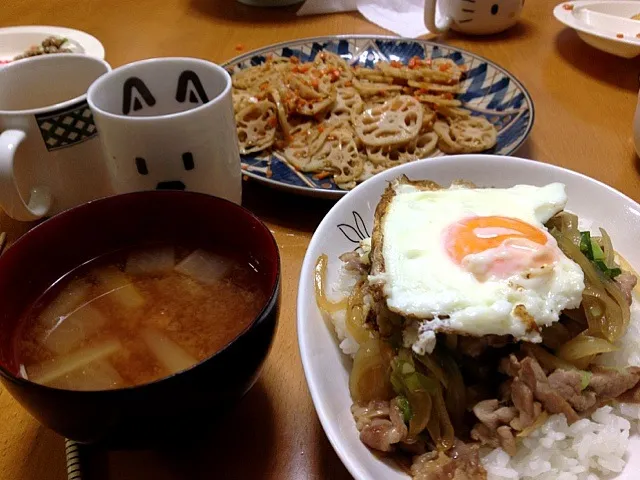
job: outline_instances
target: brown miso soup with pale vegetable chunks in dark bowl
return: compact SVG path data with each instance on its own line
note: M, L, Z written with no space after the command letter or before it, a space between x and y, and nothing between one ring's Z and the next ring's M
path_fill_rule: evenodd
M152 382L223 348L266 299L246 258L173 245L119 251L35 302L14 338L16 363L29 380L70 390Z

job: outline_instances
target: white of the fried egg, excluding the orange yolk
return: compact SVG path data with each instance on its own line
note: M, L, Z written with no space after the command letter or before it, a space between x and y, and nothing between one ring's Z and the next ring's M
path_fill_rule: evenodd
M452 222L471 216L516 218L546 232L544 223L567 203L563 184L435 191L399 184L395 189L381 220L385 271L369 281L382 284L390 310L424 319L405 339L419 353L433 348L433 332L441 330L540 341L539 333L514 314L517 305L524 305L538 326L580 305L584 274L559 249L553 267L537 275L518 272L481 282L447 255L442 241ZM549 242L557 248L551 236Z

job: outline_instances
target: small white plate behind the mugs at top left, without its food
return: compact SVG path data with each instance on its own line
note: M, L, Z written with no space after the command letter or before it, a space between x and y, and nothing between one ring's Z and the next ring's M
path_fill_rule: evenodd
M69 40L73 53L84 53L104 60L104 47L92 35L72 28L31 25L0 28L0 62L13 60L29 48L39 45L47 37L64 37Z

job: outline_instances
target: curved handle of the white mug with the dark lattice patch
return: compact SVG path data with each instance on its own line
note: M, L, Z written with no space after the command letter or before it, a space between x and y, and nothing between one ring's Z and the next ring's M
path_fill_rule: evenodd
M52 198L47 187L33 187L29 203L18 190L13 175L16 149L27 138L22 130L5 130L0 134L0 205L16 220L37 220L47 214Z

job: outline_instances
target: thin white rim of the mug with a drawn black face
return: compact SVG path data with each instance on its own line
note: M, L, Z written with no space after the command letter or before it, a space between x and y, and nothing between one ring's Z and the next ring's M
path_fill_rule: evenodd
M224 83L225 83L224 88L222 92L220 92L215 97L211 98L206 103L202 103L201 105L198 105L189 110L184 110L181 112L174 112L174 113L165 113L162 115L144 115L144 116L124 115L119 113L113 113L112 111L109 111L109 110L105 110L104 108L99 107L95 103L94 100L95 100L95 96L97 95L98 89L106 88L105 85L108 82L112 81L115 75L125 73L125 72L134 73L136 70L138 70L141 67L144 68L149 65L162 64L162 63L182 63L185 65L188 65L188 64L200 65L205 68L209 68L210 70L214 70L216 73L220 74L222 78L224 78ZM91 110L94 113L98 113L104 117L111 118L114 120L126 120L131 122L144 122L149 120L158 121L158 120L165 120L165 119L182 118L182 117L191 115L195 112L202 111L208 107L211 107L221 102L222 99L224 99L227 95L229 95L231 93L231 87L232 87L232 83L231 83L231 76L229 75L229 72L227 72L224 68L222 68L220 65L216 63L210 62L208 60L203 60L201 58L195 58L195 57L157 57L157 58L148 58L145 60L139 60L136 62L128 63L126 65L122 65L121 67L114 68L107 74L102 75L95 82L93 82L93 84L89 87L89 90L87 91L87 102L89 103L89 107L91 107Z

